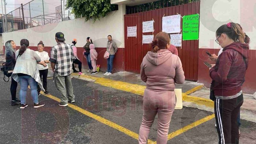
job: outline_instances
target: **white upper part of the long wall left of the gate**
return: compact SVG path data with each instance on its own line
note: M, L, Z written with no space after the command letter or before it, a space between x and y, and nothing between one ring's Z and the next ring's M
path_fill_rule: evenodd
M30 46L37 46L41 40L45 46L53 46L56 45L55 33L61 31L64 33L66 43L71 43L72 39L76 38L78 47L83 47L86 38L91 37L96 47L105 48L108 35L112 35L118 48L124 48L124 14L125 5L118 5L118 11L110 12L105 18L101 18L95 23L93 19L84 22L84 18L79 18L46 24L45 26L3 33L3 40L4 43L13 40L19 45L20 40L26 38L29 40Z

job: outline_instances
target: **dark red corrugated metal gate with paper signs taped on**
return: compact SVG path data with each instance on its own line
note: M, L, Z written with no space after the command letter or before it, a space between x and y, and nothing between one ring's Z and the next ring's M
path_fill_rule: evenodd
M142 45L142 34L151 35L152 33L142 33L142 22L154 19L154 35L162 31L162 17L170 15L192 15L200 14L200 1L174 7L167 7L153 11L139 12L136 14L124 15L124 34L125 34L125 71L140 72L140 64L143 57L151 48L148 44ZM137 25L137 37L127 38L127 27ZM181 20L182 28L182 20ZM182 62L186 80L197 81L198 51L199 41L182 41L182 47L177 47L178 54Z

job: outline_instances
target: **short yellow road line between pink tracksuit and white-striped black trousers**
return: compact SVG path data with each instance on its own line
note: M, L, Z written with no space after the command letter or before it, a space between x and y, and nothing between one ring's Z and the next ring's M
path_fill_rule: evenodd
M213 118L215 118L215 115L214 115L214 114L211 114L211 115L208 115L208 116L205 117L205 118L202 118L201 120L195 121L195 122L193 122L192 124L189 124L189 125L187 125L187 126L181 128L181 129L179 129L179 130L176 130L175 132L172 132L172 133L168 134L167 140L170 140L170 139L172 139L173 137L176 137L176 136L178 136L179 134L184 133L184 132L188 131L189 129L192 129L192 128L194 128L194 127L200 125L200 124L203 124L204 122L207 122L207 121L209 121L209 120L211 120L211 119L213 119Z

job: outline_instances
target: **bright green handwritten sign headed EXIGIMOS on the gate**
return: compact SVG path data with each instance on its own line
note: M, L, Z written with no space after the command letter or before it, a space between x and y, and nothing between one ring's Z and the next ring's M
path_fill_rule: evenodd
M183 16L183 40L199 38L199 14Z

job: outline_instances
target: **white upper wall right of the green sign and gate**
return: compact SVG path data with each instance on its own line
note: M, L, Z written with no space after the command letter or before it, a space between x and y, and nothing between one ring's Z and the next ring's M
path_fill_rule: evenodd
M222 24L240 23L251 38L250 49L256 49L256 0L201 0L199 48L220 48L215 32ZM255 20L254 20L255 19Z

